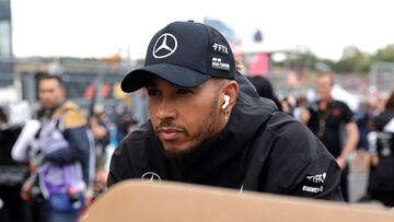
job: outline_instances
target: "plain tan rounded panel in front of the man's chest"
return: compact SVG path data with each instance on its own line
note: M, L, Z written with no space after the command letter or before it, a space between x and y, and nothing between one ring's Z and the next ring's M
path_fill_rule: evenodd
M393 222L394 210L189 184L126 180L102 195L81 222Z

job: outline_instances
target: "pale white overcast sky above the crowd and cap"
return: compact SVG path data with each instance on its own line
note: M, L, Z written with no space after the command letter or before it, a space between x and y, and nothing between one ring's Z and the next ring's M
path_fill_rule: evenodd
M13 54L138 59L166 24L208 16L244 46L258 28L262 49L308 48L337 60L349 45L372 54L394 44L393 9L392 0L11 0Z

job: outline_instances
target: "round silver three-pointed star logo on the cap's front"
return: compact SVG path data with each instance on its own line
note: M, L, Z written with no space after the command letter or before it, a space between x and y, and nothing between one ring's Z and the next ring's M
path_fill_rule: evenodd
M162 59L175 52L177 40L174 35L164 33L161 35L153 46L153 57Z

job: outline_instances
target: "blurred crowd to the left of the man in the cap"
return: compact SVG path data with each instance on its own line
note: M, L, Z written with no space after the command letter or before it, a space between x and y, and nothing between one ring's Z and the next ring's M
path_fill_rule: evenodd
M2 222L77 221L106 190L111 154L137 124L119 107L83 110L58 75L39 78L38 97L37 107L0 107Z

